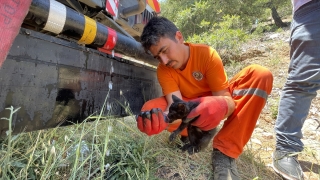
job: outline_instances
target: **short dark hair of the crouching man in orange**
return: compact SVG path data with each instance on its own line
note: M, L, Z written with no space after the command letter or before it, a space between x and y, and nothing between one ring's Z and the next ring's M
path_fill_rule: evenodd
M141 34L141 44L146 52L149 48L159 42L161 37L167 37L174 41L176 32L179 29L170 20L165 17L153 17L143 28Z

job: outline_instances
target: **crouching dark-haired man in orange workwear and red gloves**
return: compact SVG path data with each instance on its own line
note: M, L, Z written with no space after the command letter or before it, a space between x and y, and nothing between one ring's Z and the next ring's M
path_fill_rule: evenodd
M207 45L185 43L177 27L164 17L148 22L141 43L160 62L157 76L164 96L143 105L137 117L139 130L150 136L179 126L165 121L172 94L200 102L188 115L200 115L193 126L206 131L227 118L213 139L214 179L239 179L235 158L250 139L271 92L271 72L250 65L228 81L218 53ZM181 135L187 136L186 130Z

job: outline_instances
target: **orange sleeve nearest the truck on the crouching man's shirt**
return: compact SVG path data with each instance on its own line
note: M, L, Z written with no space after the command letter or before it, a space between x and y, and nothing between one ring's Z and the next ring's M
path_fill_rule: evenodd
M164 96L179 90L178 83L173 78L171 71L171 69L162 64L158 65L157 76Z

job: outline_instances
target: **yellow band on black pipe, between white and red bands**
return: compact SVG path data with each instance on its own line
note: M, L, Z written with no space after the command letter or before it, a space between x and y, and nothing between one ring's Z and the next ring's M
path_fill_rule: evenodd
M84 16L85 26L81 39L78 41L80 44L91 44L97 34L97 23L95 20Z

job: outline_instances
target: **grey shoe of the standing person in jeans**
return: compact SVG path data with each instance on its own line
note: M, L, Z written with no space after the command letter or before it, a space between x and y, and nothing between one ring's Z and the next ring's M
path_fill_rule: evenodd
M303 171L294 152L276 150L273 153L273 169L288 180L302 180Z

